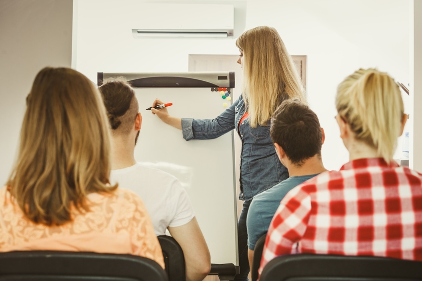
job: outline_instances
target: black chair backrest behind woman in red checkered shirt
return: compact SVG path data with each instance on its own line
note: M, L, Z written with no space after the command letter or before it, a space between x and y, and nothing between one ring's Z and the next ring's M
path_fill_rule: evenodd
M295 254L276 257L260 281L416 281L422 262L372 256Z

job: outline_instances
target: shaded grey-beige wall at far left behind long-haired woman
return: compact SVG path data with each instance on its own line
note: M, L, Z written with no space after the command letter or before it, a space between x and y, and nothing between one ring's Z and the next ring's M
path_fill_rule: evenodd
M35 75L46 66L71 66L72 5L72 0L0 0L0 186L16 156Z

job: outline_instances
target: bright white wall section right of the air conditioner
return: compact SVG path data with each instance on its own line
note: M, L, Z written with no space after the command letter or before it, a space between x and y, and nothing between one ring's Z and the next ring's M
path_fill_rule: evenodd
M334 119L337 85L354 70L369 67L408 84L409 2L282 0L276 6L273 2L249 1L247 28L274 26L290 54L307 55L308 100L326 133L323 160L328 169L338 169L348 153ZM274 8L265 9L266 4ZM401 151L401 143L398 148Z

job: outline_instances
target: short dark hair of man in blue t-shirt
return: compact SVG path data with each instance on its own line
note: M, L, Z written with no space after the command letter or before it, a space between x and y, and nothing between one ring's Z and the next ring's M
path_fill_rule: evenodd
M323 135L318 116L298 100L285 100L276 109L271 117L270 136L297 166L321 155Z

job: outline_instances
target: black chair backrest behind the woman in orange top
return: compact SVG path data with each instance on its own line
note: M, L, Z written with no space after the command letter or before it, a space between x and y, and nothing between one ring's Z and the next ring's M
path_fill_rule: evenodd
M168 281L155 261L139 256L64 251L0 253L0 280Z

